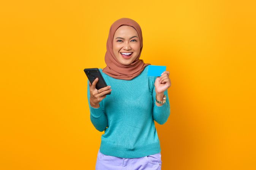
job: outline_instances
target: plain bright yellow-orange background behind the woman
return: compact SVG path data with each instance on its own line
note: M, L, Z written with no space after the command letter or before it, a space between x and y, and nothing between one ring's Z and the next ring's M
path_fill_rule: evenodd
M3 1L0 169L94 169L84 68L104 68L111 24L142 28L141 59L166 65L163 170L256 169L253 1ZM114 89L113 89L114 90Z

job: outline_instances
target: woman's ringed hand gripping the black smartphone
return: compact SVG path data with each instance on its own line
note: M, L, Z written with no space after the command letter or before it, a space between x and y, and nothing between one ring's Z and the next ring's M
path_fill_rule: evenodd
M90 105L94 108L99 108L100 107L100 102L106 97L106 94L111 92L112 89L111 86L103 87L97 91L95 88L96 83L98 82L98 78L96 78L92 84L89 81L89 86L90 86ZM98 93L99 92L99 93Z

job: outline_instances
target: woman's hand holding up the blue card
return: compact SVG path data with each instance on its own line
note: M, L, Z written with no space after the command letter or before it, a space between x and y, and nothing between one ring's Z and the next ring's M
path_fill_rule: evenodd
M164 71L160 77L155 80L155 91L156 94L164 93L166 89L171 87L171 80L169 78L169 71Z

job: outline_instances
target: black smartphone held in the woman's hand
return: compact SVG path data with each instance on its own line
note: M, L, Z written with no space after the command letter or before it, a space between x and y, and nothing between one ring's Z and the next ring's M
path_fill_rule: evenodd
M96 86L95 86L97 90L100 90L103 87L107 87L107 83L105 82L98 68L85 68L84 73L86 74L91 84L98 77L98 82L96 83ZM107 93L106 95L109 95L109 94L111 94L111 92Z

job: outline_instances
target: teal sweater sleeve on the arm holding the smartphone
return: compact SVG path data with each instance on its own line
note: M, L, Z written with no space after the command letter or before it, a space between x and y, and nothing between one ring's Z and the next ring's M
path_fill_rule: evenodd
M88 98L88 105L90 109L90 120L93 126L98 131L104 131L107 127L107 116L104 113L104 105L103 100L100 101L100 107L94 108L90 105L90 86L89 80L87 80L87 98Z

